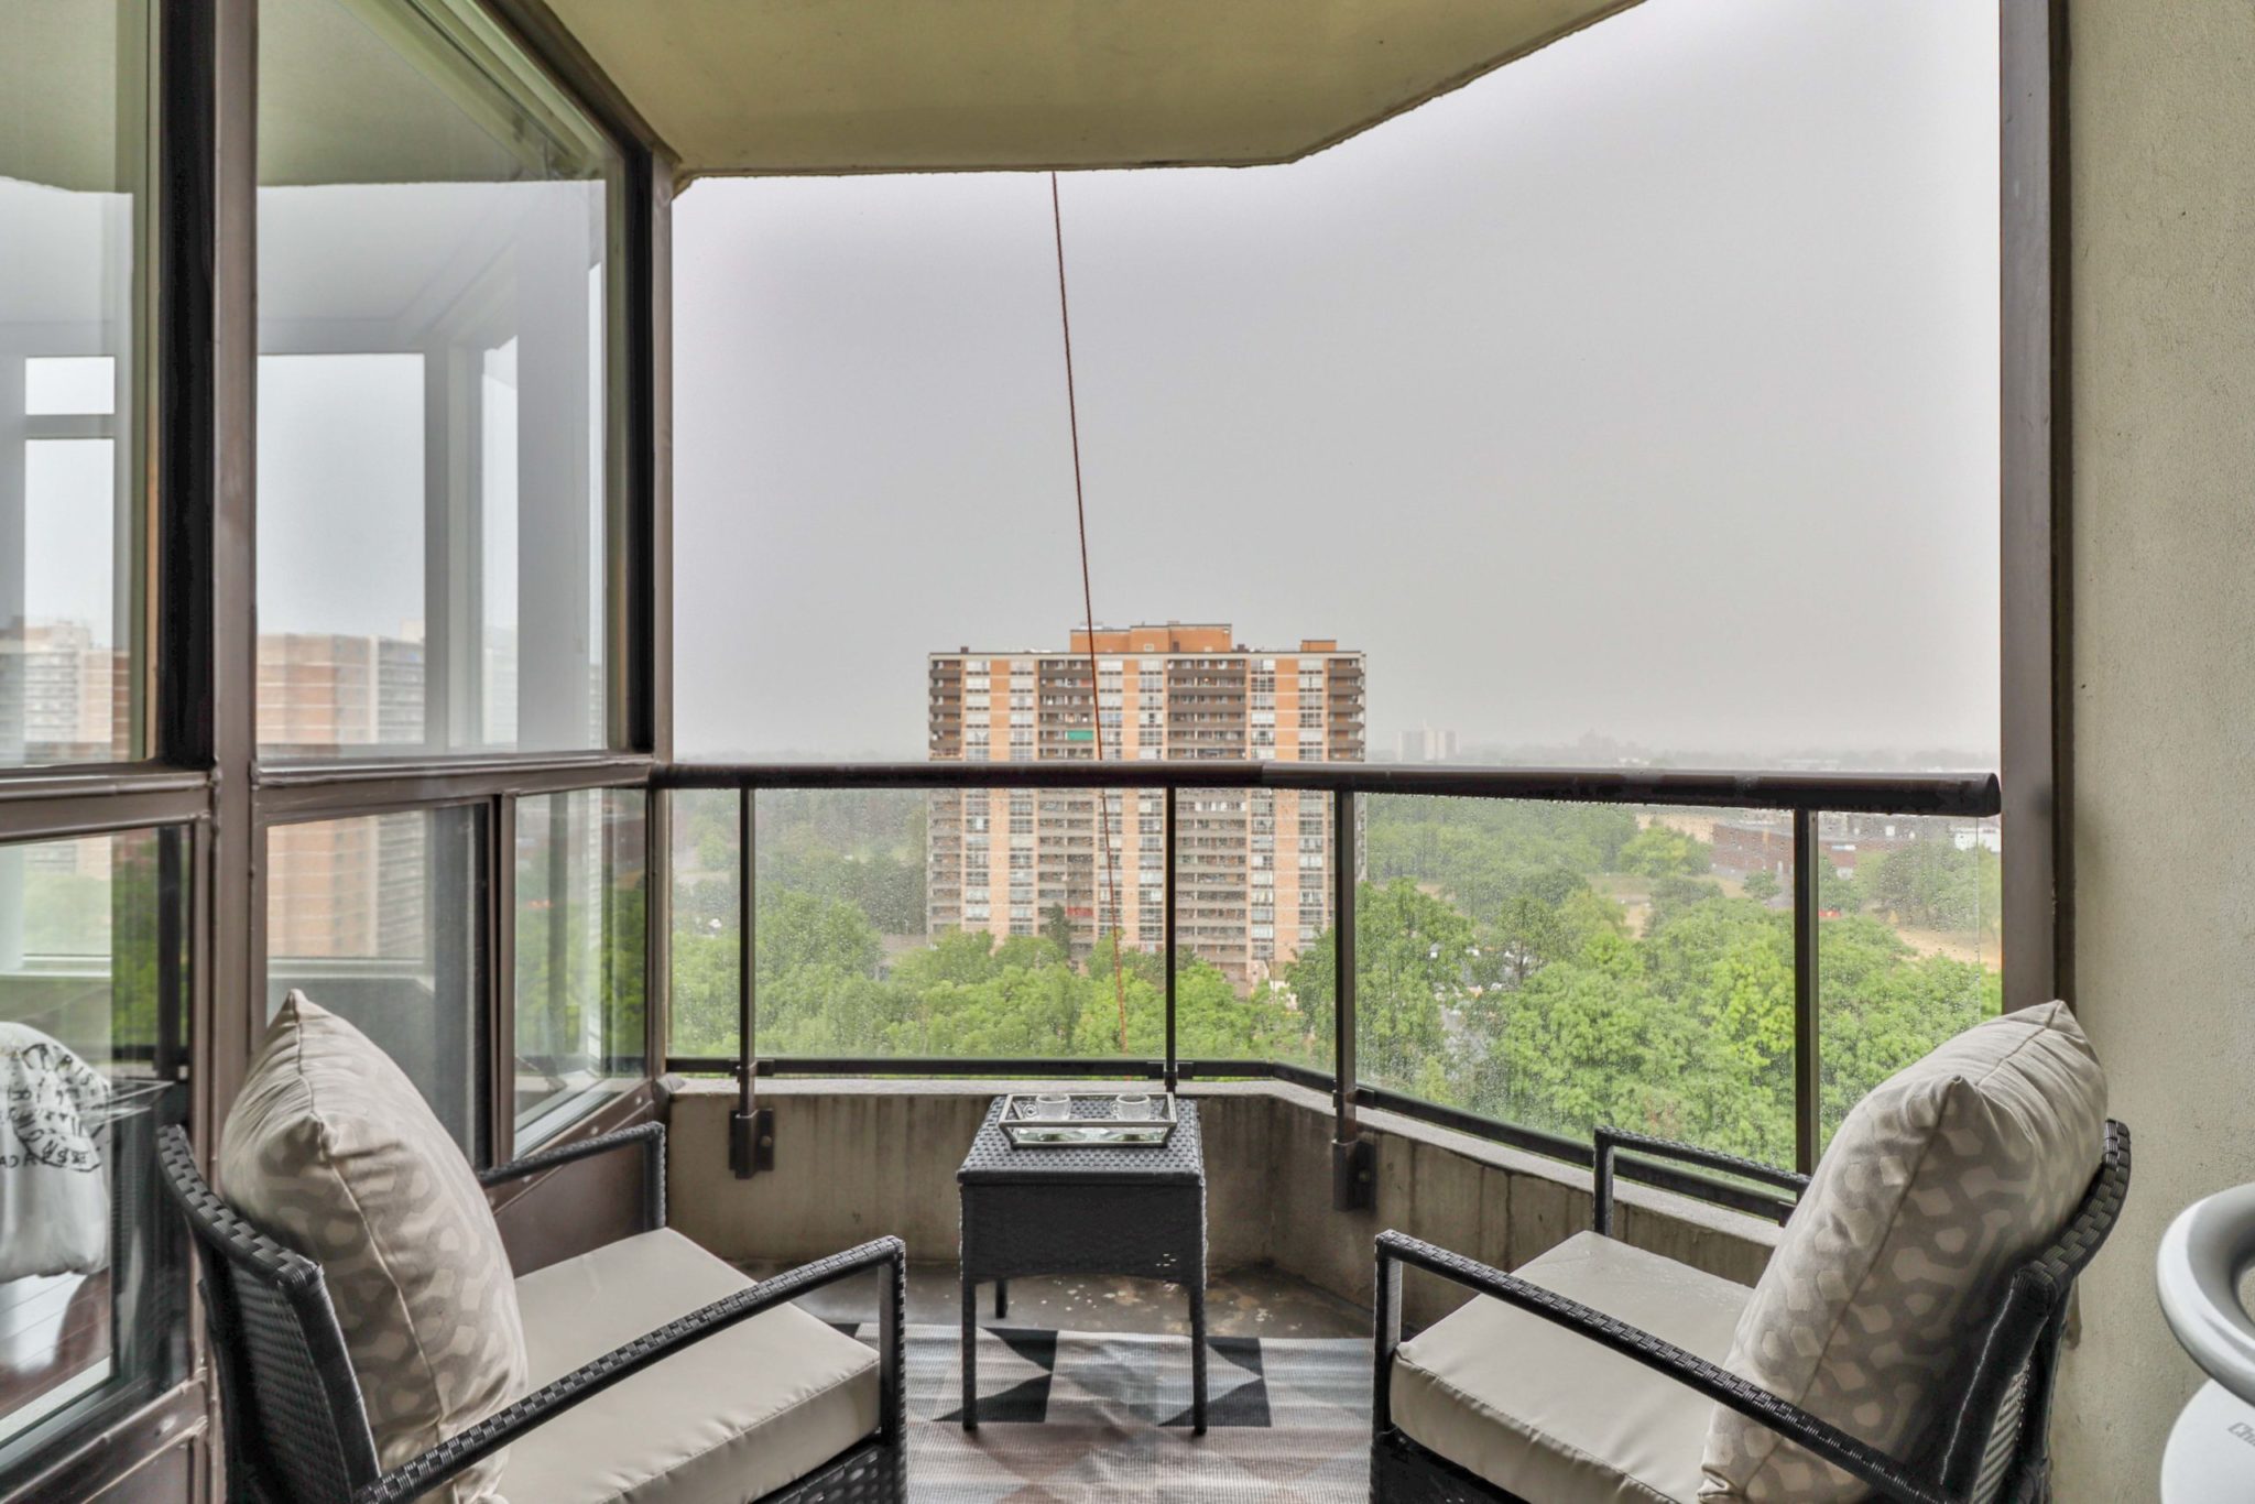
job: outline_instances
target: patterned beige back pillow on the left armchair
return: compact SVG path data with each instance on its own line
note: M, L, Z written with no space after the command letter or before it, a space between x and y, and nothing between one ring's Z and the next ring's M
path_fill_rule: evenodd
M525 1394L516 1283L478 1177L390 1055L302 992L250 1062L219 1177L320 1265L383 1468ZM426 1497L496 1499L505 1457Z

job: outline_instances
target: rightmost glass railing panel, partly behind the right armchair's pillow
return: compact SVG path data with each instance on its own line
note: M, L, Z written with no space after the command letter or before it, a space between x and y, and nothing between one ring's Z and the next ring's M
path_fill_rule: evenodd
M2002 825L1818 819L1820 1130L1872 1087L2005 1006Z

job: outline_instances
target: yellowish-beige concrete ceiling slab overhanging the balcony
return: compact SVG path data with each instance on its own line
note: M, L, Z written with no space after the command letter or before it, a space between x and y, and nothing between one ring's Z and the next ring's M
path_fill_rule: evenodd
M699 174L1288 162L1635 0L546 0Z

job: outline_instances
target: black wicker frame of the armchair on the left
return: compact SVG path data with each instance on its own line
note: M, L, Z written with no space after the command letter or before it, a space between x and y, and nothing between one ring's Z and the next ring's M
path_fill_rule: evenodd
M665 1227L665 1127L643 1123L525 1154L485 1170L498 1186L575 1159L622 1148L643 1150L643 1215ZM769 1493L760 1504L902 1504L907 1499L907 1355L902 1324L909 1301L909 1254L900 1238L861 1247L760 1281L679 1321L636 1337L566 1373L478 1425L383 1472L377 1463L361 1384L345 1353L336 1308L320 1265L244 1222L196 1170L187 1134L167 1127L158 1141L165 1186L187 1215L203 1269L203 1315L212 1337L226 1407L228 1497L250 1504L406 1504L471 1463L492 1457L537 1425L571 1412L611 1384L672 1353L728 1330L810 1290L882 1269L877 1301L879 1409L866 1441L812 1475Z

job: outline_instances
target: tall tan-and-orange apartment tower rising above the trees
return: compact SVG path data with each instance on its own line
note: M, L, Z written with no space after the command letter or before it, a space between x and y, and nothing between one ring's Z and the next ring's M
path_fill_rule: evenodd
M1091 683L1094 667L1094 683ZM1364 661L1328 638L1236 643L1227 622L1094 634L1069 647L931 654L936 762L1362 762ZM1118 929L1166 936L1161 791L992 789L931 796L927 929L1044 934L1076 954ZM1240 985L1330 924L1330 800L1292 789L1179 789L1175 938ZM1103 846L1109 825L1112 882ZM1114 913L1112 897L1118 900Z

